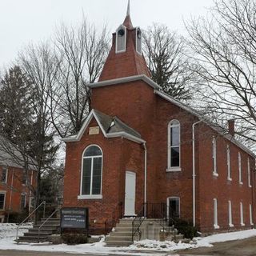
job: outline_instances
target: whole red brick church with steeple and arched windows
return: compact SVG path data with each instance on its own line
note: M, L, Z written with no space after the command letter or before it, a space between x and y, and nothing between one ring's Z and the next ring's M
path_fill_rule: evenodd
M202 232L251 228L254 153L234 138L234 121L226 133L151 80L129 9L90 84L90 114L64 139L63 206L88 207L90 226L102 228L153 211Z

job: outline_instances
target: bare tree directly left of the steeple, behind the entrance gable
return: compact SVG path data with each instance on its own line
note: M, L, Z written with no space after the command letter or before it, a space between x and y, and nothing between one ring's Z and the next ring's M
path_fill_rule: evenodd
M62 24L56 34L58 66L57 94L51 109L58 134L77 133L90 111L90 88L101 73L109 50L106 28L97 33L84 18L78 27Z

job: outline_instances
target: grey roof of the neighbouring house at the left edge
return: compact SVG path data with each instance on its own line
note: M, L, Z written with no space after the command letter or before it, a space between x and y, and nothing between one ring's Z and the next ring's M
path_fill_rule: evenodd
M30 170L36 170L36 161L30 160ZM0 166L11 166L23 169L24 160L18 148L7 138L0 135Z

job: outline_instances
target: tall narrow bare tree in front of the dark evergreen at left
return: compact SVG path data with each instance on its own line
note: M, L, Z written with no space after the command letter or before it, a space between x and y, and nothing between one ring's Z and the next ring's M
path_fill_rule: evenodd
M49 43L42 43L38 46L27 46L19 55L19 62L23 72L33 84L30 89L34 121L31 126L33 144L30 145L30 155L37 162L36 205L38 205L42 174L52 169L58 150L58 144L54 141L50 110L52 91L58 78L58 58L53 54Z

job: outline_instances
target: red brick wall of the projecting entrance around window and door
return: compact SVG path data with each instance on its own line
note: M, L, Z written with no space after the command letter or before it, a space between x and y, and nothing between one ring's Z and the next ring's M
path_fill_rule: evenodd
M80 142L70 142L66 146L66 167L64 176L64 206L89 207L91 227L103 227L105 222L111 223L113 215L119 216L120 207L124 204L126 170L134 171L136 177L136 209L143 200L141 145L129 142L125 138L107 139L102 132L88 135L90 126L97 126L92 120ZM82 154L87 146L95 144L103 152L102 167L102 199L78 199L82 169ZM123 208L123 207L122 207Z

